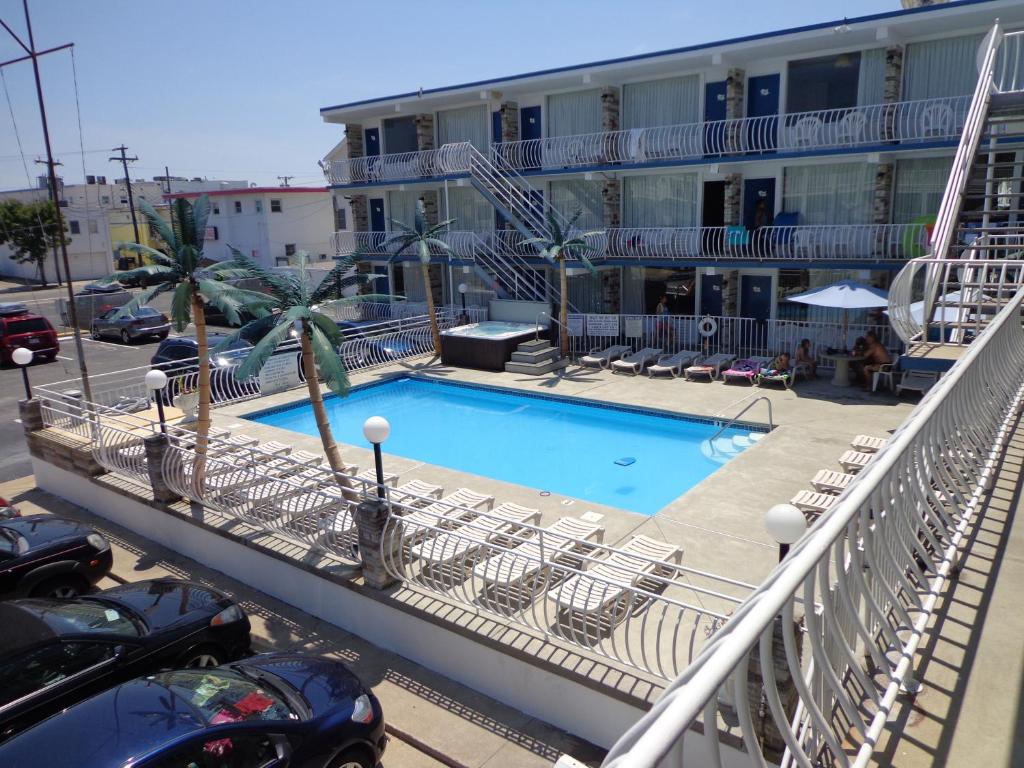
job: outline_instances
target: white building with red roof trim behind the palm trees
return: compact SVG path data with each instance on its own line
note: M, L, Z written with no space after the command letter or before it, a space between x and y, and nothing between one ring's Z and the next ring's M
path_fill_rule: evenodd
M288 266L299 251L313 262L330 262L334 256L335 214L325 187L253 186L206 194L211 205L207 258L229 259L233 247L269 268ZM164 197L195 200L200 195Z

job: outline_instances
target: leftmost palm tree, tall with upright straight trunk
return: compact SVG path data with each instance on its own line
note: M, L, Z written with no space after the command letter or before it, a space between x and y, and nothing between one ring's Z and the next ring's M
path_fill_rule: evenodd
M167 248L167 253L139 243L118 244L118 249L146 256L153 263L115 272L108 281L128 280L153 283L156 286L139 292L123 307L122 312L131 312L147 304L158 294L173 291L171 299L171 321L180 333L189 323L196 324L196 343L199 346L199 418L196 424L196 454L206 455L207 438L210 433L210 353L206 336L206 313L204 300L224 313L229 323L241 322L240 311L249 310L256 316L267 313L266 305L271 299L256 291L246 291L216 278L228 267L220 262L201 268L206 221L210 215L210 200L204 195L195 205L183 198L171 203L173 226L164 221L146 201L139 201L139 208ZM207 276L209 273L209 276ZM233 276L239 276L236 269ZM251 275L245 275L251 276ZM197 476L202 473L197 466Z

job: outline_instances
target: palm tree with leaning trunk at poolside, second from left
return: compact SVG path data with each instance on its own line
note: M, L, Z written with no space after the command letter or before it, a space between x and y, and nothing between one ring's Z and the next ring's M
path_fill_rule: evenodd
M335 267L318 285L313 286L309 282L309 272L306 268L307 255L304 252L300 251L297 254L296 274L269 272L236 249L232 248L231 252L233 258L228 262L228 268L237 268L243 273L259 278L272 302L269 305L271 314L250 322L218 346L229 345L232 339L256 324L269 327L266 336L260 339L234 372L234 377L243 380L259 374L278 345L293 335L293 329L298 332L302 348L302 372L306 378L309 402L316 419L321 441L324 443L324 453L327 454L328 463L339 483L350 487L346 479L347 468L331 431L331 421L324 407L324 394L317 379L318 369L319 375L332 392L342 397L347 394L348 374L338 355L338 347L344 341L344 336L335 321L325 314L324 310L342 304L381 301L391 297L379 294L360 294L349 298L343 296L347 288L373 280L369 274L354 273L355 262L359 258L358 253L338 257Z

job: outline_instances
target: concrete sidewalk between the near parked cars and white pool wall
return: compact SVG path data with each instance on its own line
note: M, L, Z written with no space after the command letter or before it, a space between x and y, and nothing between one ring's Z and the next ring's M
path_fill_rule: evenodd
M210 584L240 600L253 626L253 649L301 649L341 658L380 697L393 728L383 765L401 768L548 767L567 753L599 765L603 751L401 656L113 525L35 487L32 477L0 483L23 514L49 512L87 520L114 547L113 579L99 586L163 575ZM568 702L567 702L568 703Z

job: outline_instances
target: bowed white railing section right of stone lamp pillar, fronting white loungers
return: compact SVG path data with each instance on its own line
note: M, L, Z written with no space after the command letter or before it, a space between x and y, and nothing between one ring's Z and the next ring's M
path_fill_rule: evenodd
M415 506L391 510L382 554L394 578L662 680L689 664L752 589L489 512L430 524L422 512L406 517ZM617 566L607 562L613 555Z

